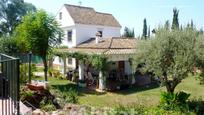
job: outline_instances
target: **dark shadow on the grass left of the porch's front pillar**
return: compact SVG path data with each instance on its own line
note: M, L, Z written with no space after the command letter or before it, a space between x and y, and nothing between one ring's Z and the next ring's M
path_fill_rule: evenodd
M79 96L84 96L86 94L89 94L89 95L103 95L103 94L105 94L105 93L100 93L100 92L97 92L94 90L90 90L86 87L85 88L79 87L77 84L74 84L74 83L68 83L68 84L63 84L63 85L51 85L51 87L55 90L62 92L62 93L69 92L70 89L72 89L72 90L77 91Z

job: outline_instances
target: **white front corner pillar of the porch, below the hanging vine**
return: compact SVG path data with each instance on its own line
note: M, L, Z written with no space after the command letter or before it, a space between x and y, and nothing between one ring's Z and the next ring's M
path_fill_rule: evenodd
M106 77L103 75L103 72L99 72L99 90L104 91L106 89Z

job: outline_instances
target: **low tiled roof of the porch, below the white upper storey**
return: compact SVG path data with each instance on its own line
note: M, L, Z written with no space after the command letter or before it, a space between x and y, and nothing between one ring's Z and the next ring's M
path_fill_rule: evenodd
M136 49L136 39L128 38L101 38L99 43L95 39L89 39L77 47L61 49L62 52L81 52L86 54L134 54Z

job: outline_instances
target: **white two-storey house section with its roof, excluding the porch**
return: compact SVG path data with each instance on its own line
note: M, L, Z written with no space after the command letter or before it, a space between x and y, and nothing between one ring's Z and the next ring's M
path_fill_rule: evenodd
M121 25L112 14L96 12L93 8L64 4L56 15L64 31L62 46L69 48L95 38L100 33L102 38L120 37ZM67 66L76 68L75 59L67 59ZM56 57L55 65L62 65L60 58Z

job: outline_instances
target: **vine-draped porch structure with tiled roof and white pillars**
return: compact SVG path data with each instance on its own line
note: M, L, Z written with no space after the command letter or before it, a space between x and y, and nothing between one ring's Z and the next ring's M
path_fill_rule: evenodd
M90 39L77 47L56 49L55 55L63 59L64 73L66 73L66 58L72 57L79 60L79 79L84 80L84 61L88 60L99 71L99 90L106 89L105 65L108 62L126 61L128 74L132 74L131 59L135 55L135 39L127 38L106 38L95 43L95 39Z

